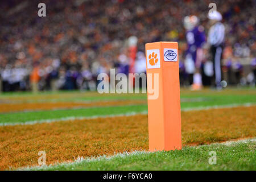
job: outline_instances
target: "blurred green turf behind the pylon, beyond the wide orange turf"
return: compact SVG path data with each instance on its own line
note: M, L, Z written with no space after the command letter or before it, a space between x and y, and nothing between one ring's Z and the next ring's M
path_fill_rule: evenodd
M230 93L227 95L227 93ZM243 105L243 104L255 104L256 103L256 92L255 90L249 89L248 94L245 89L242 89L242 94L239 90L231 89L228 91L214 92L209 90L209 92L191 92L183 93L181 91L181 110L182 109L193 109L193 108L204 108L212 106L226 106L226 105ZM245 93L244 93L245 92ZM48 94L47 94L48 93ZM42 98L32 99L28 93L19 94L4 94L0 96L2 100L7 100L8 98L26 98L23 100L24 104L26 102L61 102L61 101L72 101L72 102L82 102L95 100L147 100L146 94L98 94L97 96L90 96L90 93L71 92L68 93L72 96L71 98L44 98L44 96L49 96L51 92L39 93L34 96L39 96ZM79 94L77 94L79 93ZM60 92L61 94L67 94L67 92ZM65 96L63 96L65 97ZM3 113L0 115L1 123L20 123L27 121L40 121L45 119L60 119L66 117L93 117L100 115L113 115L113 114L126 114L126 113L141 113L147 111L147 105L124 105L124 106L109 106L109 107L91 107L86 109L60 109L60 110L47 110L47 111L27 111L18 113Z

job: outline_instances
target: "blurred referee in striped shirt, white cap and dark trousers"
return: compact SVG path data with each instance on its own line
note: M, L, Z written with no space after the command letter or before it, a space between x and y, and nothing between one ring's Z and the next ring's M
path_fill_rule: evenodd
M210 44L210 52L212 53L215 84L217 89L221 89L221 56L224 48L225 27L221 23L222 16L218 11L209 13L208 18L211 24L208 43Z

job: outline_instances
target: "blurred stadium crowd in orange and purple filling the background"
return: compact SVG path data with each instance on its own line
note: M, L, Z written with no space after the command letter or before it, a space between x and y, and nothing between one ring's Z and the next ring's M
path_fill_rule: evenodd
M46 3L46 17L38 16L39 2ZM133 57L133 72L146 72L144 44L158 41L179 42L180 80L189 85L183 64L187 46L183 19L196 15L207 32L210 2L1 1L2 90L95 89L98 73L116 68L116 73L127 74ZM226 29L222 60L226 80L255 84L255 1L214 2ZM135 55L127 41L130 36L138 38ZM207 51L205 55L210 59Z

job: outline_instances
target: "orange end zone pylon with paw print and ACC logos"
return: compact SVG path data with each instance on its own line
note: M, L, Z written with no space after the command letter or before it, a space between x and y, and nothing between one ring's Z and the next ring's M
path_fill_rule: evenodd
M150 151L180 150L181 116L177 42L147 43L146 59L149 149ZM157 86L159 90L156 90Z

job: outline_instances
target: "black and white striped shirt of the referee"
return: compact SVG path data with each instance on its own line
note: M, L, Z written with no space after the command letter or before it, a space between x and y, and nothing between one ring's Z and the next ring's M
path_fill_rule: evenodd
M221 22L215 23L210 27L208 34L208 42L211 46L220 46L224 43L225 38L225 27Z

